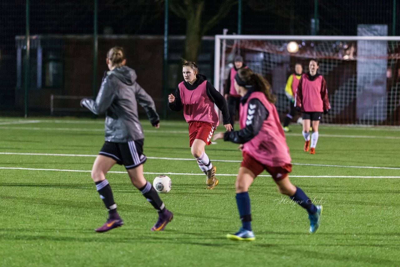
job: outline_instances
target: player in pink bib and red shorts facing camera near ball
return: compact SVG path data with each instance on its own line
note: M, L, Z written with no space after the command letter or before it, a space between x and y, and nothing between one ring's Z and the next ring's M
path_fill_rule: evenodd
M183 116L189 124L189 147L197 159L200 169L207 175L207 189L218 185L215 178L216 167L211 164L204 147L211 144L211 137L219 124L214 103L222 111L224 126L232 130L225 99L206 77L198 74L194 62L184 61L182 66L184 81L178 84L175 95L168 96L168 106L173 111L183 109Z

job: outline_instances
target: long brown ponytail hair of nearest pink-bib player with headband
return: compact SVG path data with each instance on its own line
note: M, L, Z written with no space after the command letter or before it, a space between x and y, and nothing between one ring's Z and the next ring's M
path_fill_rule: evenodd
M238 76L240 80L246 82L246 85L251 85L256 88L257 91L263 92L267 100L275 104L276 97L271 92L270 83L264 79L260 74L254 73L250 68L241 68L238 70Z

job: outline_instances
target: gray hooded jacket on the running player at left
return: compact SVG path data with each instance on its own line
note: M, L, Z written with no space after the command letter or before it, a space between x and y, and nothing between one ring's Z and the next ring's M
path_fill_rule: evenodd
M106 113L106 141L126 143L144 139L137 102L146 110L153 126L160 122L153 99L136 78L135 70L127 66L114 68L106 72L96 101L88 98L81 101L81 106L94 114Z

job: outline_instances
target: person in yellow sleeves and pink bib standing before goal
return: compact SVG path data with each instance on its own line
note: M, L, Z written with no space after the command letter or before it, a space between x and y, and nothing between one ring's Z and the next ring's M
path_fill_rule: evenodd
M296 63L294 65L294 73L290 74L288 81L286 82L285 94L289 100L290 111L288 114L286 114L285 120L283 122L283 130L285 132L290 131L288 126L292 121L294 114L296 114L296 107L294 106L294 96L296 96L296 89L302 74L302 65L300 63Z

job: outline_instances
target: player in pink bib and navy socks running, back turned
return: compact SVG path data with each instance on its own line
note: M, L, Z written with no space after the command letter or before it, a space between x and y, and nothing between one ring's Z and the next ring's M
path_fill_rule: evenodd
M238 143L243 154L239 173L236 177L236 203L242 227L237 233L228 234L232 240L255 239L251 228L250 197L248 188L254 179L266 170L274 179L278 191L308 211L310 233L320 225L322 206L315 206L310 198L290 183L288 173L292 171L289 148L278 112L274 106L275 97L270 84L250 69L241 69L235 76L235 88L242 96L240 100L240 130L219 132L214 140L224 139Z

